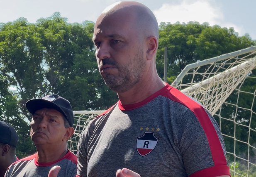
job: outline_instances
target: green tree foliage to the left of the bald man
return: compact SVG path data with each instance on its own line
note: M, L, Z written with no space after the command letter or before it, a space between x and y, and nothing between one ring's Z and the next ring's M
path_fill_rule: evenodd
M104 84L94 54L94 24L68 24L54 13L36 24L20 18L0 24L0 116L20 135L18 157L35 152L25 103L59 94L73 110L103 110L117 101Z

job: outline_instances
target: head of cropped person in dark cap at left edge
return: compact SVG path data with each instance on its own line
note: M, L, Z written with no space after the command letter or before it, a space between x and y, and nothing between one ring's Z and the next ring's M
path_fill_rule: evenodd
M0 120L0 177L4 177L7 168L17 161L18 140L19 137L15 128Z

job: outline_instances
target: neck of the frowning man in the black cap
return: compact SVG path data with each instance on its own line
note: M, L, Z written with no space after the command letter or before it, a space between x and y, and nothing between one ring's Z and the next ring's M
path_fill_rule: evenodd
M61 148L36 146L37 147L37 161L39 163L50 163L63 158L67 153L68 149L66 146Z

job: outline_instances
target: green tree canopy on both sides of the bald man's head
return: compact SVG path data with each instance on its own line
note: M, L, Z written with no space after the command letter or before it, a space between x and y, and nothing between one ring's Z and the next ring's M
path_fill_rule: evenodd
M104 110L117 101L102 80L91 40L94 23L69 24L54 13L30 24L20 18L0 24L0 118L15 126L18 157L35 152L29 137L31 115L25 103L47 94L68 99L73 110ZM163 78L164 47L168 47L168 83L195 61L256 45L233 28L199 24L161 23L156 57Z

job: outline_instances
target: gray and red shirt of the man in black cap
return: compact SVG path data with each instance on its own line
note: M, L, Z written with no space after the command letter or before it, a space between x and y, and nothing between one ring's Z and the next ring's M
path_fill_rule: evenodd
M71 151L63 158L50 163L37 162L37 154L22 158L8 168L5 177L47 177L55 165L61 167L58 177L76 177L77 156Z

